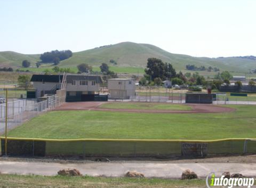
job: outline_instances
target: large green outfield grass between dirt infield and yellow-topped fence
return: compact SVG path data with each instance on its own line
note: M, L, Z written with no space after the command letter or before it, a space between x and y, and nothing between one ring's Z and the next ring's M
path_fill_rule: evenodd
M232 113L146 114L93 110L50 111L8 132L42 139L225 139L255 138L256 106Z

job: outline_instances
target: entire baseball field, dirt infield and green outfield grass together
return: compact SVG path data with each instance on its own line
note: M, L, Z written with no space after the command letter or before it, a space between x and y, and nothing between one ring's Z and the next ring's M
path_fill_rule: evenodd
M254 138L256 106L72 102L8 132L41 139Z

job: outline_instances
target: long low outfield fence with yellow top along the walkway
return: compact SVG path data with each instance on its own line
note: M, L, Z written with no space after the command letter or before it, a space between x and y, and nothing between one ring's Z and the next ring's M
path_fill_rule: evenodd
M0 137L4 155L4 137ZM7 155L78 157L172 157L255 154L256 139L139 140L8 138Z

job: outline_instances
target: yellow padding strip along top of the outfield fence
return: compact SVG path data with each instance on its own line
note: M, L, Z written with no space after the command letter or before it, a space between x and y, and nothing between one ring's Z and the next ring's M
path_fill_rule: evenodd
M0 137L0 139L4 139L4 137ZM250 138L239 138L239 139L217 139L217 140L183 140L183 139L32 139L32 138L12 138L8 137L8 140L24 140L24 141L45 141L45 142L77 142L77 141L98 141L98 142L186 142L186 143L214 143L221 141L244 141L244 140L252 140L256 141L256 139Z

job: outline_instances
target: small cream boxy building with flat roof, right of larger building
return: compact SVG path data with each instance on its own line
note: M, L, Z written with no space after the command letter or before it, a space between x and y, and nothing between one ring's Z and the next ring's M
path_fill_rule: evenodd
M135 95L135 79L112 78L108 79L109 98L129 99Z

